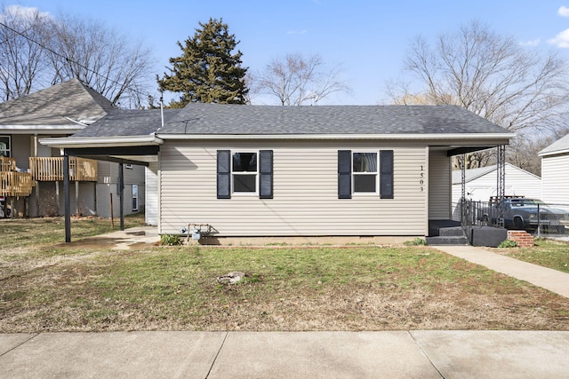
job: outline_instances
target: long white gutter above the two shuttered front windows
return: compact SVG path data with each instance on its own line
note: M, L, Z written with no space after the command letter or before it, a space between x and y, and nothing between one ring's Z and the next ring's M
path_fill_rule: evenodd
M382 140L495 140L509 139L516 137L515 133L482 134L482 133L460 133L460 134L156 134L162 139L331 139L331 140L353 140L353 139L382 139Z

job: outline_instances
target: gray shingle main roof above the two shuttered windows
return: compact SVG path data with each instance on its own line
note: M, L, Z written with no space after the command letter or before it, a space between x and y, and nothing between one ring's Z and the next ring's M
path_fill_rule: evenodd
M241 106L191 103L158 134L509 133L455 106Z

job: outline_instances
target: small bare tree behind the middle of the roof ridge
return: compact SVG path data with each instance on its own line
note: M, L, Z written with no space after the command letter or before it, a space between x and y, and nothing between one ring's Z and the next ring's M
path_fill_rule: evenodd
M253 88L257 93L275 96L282 106L316 105L334 92L349 92L340 74L340 66L327 69L320 55L291 53L272 59L253 78Z

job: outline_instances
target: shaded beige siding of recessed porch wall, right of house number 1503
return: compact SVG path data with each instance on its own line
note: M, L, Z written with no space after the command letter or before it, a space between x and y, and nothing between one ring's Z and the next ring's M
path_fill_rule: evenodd
M451 159L446 151L429 152L429 219L451 218Z

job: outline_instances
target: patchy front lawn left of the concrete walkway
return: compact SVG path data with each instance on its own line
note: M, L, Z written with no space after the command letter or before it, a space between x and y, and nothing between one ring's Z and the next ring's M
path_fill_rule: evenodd
M30 230L63 228L40 220ZM12 221L0 222L3 333L569 330L569 299L428 247L69 249ZM74 220L75 235L91 222ZM217 280L233 271L246 277Z

